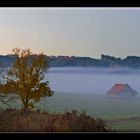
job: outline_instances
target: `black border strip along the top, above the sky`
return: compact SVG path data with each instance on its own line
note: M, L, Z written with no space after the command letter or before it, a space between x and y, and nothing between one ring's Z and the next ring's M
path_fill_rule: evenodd
M1 0L0 7L139 7L139 0Z

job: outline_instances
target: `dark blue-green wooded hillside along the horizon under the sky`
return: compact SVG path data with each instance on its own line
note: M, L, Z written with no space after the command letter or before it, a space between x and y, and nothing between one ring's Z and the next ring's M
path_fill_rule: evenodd
M96 66L96 67L131 67L140 68L140 57L127 56L124 59L115 58L109 55L101 55L100 59L91 57L76 57L76 56L46 56L50 67L66 67L66 66ZM0 67L11 66L15 56L6 55L0 56Z

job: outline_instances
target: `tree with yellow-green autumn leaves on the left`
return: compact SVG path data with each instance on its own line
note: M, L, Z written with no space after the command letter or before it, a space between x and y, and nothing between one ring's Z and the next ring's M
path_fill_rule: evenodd
M19 95L23 109L34 108L42 97L52 96L53 91L44 81L48 69L43 54L33 55L30 49L13 49L16 60L9 69L6 82L0 84L1 93Z

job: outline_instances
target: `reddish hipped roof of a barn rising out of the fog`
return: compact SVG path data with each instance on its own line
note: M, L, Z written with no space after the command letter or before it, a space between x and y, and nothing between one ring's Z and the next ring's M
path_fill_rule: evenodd
M115 84L107 95L111 97L133 97L138 93L133 90L128 84Z

